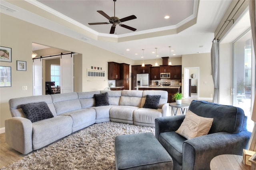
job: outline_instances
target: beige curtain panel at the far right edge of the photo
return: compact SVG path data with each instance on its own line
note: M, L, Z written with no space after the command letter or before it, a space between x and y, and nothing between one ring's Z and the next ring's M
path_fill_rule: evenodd
M249 14L250 14L250 22L252 29L252 44L254 46L254 54L256 54L256 3L255 0L249 0ZM256 57L256 56L254 56ZM252 121L256 122L256 95L254 95L254 105L252 109ZM256 151L256 125L252 130L252 135L250 137L249 150Z

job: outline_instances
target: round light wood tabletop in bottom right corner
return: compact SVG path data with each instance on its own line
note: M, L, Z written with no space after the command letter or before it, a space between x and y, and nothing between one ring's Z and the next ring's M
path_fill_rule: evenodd
M210 163L211 170L250 170L250 166L245 166L243 156L224 154L215 156Z

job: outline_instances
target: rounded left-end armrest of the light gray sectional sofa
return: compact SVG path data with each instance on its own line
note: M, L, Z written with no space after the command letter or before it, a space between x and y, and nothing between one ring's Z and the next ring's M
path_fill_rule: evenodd
M5 120L5 140L22 154L32 152L32 122L23 117Z

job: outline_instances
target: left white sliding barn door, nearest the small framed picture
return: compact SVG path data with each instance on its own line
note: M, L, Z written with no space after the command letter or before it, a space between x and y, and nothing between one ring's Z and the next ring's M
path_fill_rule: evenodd
M43 60L33 60L33 95L43 95Z

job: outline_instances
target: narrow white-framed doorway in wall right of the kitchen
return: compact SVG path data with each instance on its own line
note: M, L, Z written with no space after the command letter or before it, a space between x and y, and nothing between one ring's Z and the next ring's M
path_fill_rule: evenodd
M198 99L199 97L199 67L184 68L184 94L185 99Z

